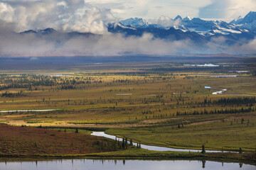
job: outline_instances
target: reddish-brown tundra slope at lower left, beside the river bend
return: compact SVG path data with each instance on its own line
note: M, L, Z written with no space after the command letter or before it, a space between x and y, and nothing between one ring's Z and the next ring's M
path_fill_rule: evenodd
M112 151L110 144L110 140L91 135L0 125L1 156L90 154Z

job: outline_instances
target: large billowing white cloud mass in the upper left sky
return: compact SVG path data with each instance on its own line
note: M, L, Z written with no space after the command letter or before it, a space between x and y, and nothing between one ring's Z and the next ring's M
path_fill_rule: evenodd
M104 33L105 24L116 21L110 10L95 8L83 0L2 1L0 19L14 23L14 30L55 28Z

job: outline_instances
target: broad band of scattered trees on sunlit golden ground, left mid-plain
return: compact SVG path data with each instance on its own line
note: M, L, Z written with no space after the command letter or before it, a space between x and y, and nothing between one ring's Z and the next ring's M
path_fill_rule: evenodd
M85 89L85 85L89 87L97 84L101 86L112 86L113 83L130 84L137 83L134 80L128 79L113 79L112 82L105 83L102 77L58 77L45 75L22 75L22 76L0 76L0 90L6 89L28 89L29 91L43 89L43 87L50 87L51 90L65 90L65 89ZM82 86L84 85L84 86Z

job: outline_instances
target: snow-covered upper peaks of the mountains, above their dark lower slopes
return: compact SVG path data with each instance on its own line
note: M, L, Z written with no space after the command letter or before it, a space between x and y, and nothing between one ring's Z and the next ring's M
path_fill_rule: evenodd
M129 18L120 21L123 26L132 28L175 28L183 32L196 32L198 34L209 36L214 34L228 35L230 33L243 33L249 30L256 30L256 12L250 12L245 18L238 18L230 23L225 21L205 21L201 18L181 18L176 16L172 19L167 16L161 16L156 23L150 23L142 18Z

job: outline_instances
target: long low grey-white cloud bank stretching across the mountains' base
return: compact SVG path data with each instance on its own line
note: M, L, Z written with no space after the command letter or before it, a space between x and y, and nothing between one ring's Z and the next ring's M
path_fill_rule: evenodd
M122 34L68 35L51 33L18 34L0 28L0 56L45 57L78 55L177 55L228 53L233 55L256 54L256 40L244 45L225 45L223 38L197 45L191 40L161 40L151 34L142 37L124 37ZM222 43L223 42L223 43Z

